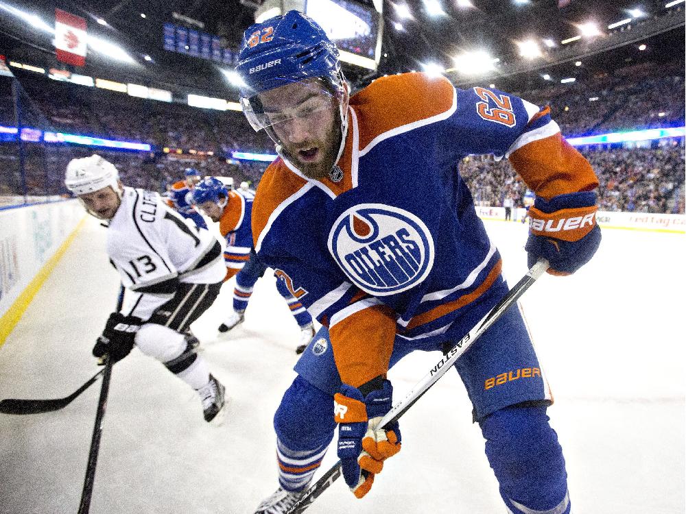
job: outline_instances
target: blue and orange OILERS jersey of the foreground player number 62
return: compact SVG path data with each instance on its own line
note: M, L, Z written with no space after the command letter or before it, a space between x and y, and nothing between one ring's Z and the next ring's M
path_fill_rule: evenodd
M309 180L283 158L263 175L255 249L329 328L343 382L385 374L394 341L445 338L502 280L458 169L470 154L509 158L546 199L598 186L548 108L423 73L351 97L339 182Z

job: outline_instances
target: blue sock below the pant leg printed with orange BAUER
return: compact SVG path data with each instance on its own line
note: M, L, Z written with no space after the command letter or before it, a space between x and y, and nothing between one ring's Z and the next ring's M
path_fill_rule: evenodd
M567 471L545 406L510 406L481 421L486 456L514 514L569 514Z

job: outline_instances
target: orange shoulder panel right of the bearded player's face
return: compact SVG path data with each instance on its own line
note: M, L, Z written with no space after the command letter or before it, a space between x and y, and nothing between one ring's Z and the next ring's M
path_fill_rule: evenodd
M447 78L425 73L376 79L350 99L359 121L359 148L384 132L446 112L454 92Z

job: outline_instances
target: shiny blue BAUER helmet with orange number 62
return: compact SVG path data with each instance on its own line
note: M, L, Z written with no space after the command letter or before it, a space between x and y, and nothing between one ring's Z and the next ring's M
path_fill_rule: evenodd
M259 93L307 79L321 80L318 87L331 95L343 93L338 49L322 27L295 10L248 27L236 71L244 82L241 106L256 131L276 123L264 114Z

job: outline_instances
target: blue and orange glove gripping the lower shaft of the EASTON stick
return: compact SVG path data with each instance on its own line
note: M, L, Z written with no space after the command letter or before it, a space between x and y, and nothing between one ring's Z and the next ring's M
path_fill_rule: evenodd
M357 498L372 487L374 476L383 469L383 461L401 448L398 422L388 430L379 426L381 418L392 407L393 387L383 380L381 389L363 396L355 387L343 384L334 396L335 420L338 427L338 458L343 478Z

